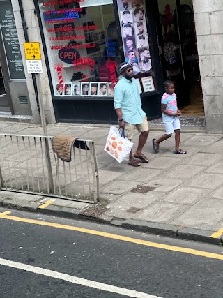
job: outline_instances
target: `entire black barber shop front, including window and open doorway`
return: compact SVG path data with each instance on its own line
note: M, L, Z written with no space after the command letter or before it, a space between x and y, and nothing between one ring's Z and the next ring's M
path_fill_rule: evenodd
M197 91L202 114L192 0L185 1L34 0L56 121L115 123L122 61L133 65L148 119L160 117L167 78L186 112Z

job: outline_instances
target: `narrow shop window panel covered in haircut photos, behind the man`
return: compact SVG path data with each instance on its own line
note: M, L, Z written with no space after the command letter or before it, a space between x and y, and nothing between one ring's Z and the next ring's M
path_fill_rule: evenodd
M142 92L155 90L144 0L117 0L125 61L132 63Z

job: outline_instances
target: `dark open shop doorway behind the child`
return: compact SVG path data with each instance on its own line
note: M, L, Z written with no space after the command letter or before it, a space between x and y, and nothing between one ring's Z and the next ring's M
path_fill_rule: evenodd
M157 0L164 80L175 82L183 116L204 116L192 0Z

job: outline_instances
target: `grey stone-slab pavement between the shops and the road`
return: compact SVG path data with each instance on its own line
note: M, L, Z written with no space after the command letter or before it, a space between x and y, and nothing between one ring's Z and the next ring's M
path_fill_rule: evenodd
M95 141L100 202L87 204L50 200L41 195L0 192L0 207L22 209L68 218L91 219L122 228L180 239L222 245L223 233L223 135L208 134L203 127L184 127L180 148L187 154L173 154L174 136L154 154L153 138L162 126L150 125L144 147L149 163L131 167L118 163L105 151L108 125L55 124L48 135L75 135ZM35 124L0 122L0 133L43 135ZM139 134L135 133L133 150Z

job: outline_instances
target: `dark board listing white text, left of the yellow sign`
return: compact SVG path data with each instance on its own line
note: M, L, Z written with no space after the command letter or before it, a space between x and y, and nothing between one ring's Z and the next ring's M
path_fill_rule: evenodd
M9 0L0 1L0 30L6 52L11 80L24 80L24 68L20 52L13 8Z

